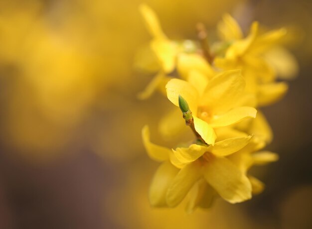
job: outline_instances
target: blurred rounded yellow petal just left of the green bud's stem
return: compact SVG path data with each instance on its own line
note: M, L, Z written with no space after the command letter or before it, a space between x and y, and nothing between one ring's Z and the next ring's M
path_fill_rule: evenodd
M160 134L164 138L168 139L180 135L188 130L182 116L181 110L175 107L172 111L165 114L165 116L163 116L159 121L158 130Z

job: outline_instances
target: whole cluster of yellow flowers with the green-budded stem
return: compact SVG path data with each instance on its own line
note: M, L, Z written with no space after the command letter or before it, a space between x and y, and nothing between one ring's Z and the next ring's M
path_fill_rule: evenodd
M149 156L162 163L150 187L151 205L175 207L187 196L186 209L192 212L209 208L218 197L240 203L262 192L264 184L248 170L278 160L263 150L273 134L259 109L287 92L278 77L296 75L296 61L281 46L286 29L261 32L254 22L244 36L225 14L217 25L218 41L210 44L202 24L198 40L174 41L150 7L140 10L153 37L141 65L157 73L139 98L158 90L175 105L159 123L165 138L183 135L185 124L194 133L194 139L169 149L152 143L149 127L143 128Z

